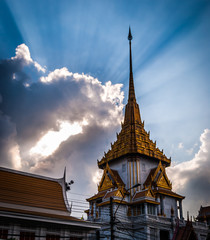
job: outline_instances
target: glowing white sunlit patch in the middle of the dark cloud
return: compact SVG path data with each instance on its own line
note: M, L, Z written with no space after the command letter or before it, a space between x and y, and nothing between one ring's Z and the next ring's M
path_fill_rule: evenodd
M58 131L49 130L29 151L30 155L40 155L47 157L51 155L63 141L66 141L70 136L82 133L82 127L88 122L74 122L70 124L68 121L57 121L59 125Z

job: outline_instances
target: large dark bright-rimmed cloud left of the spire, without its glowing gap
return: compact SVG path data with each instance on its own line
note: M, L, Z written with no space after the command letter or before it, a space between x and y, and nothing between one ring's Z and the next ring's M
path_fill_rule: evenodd
M23 170L56 175L68 164L72 168L78 163L95 164L98 149L106 145L122 119L121 85L102 85L66 68L31 81L30 68L45 71L31 59L24 44L18 46L15 57L0 63L1 165L15 167L14 161L19 159ZM84 119L87 124L82 133L61 142L51 155L30 154L49 130L59 131L58 120L74 123Z

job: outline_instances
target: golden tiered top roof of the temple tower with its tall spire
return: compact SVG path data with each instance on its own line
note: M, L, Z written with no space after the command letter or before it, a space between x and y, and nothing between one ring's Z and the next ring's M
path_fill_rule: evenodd
M117 140L111 144L111 149L104 154L98 161L99 168L103 169L106 163L114 159L129 154L139 154L162 161L164 165L170 166L171 159L167 158L158 147L156 141L150 139L150 133L144 129L144 122L141 121L139 105L135 98L135 89L132 70L132 52L131 52L131 29L129 28L129 53L130 53L130 74L129 74L129 94L128 102L125 107L124 123L122 129L117 134Z

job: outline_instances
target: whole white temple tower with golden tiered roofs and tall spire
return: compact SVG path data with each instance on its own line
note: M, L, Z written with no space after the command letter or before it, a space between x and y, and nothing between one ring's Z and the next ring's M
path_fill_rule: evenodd
M171 159L150 139L141 120L135 97L132 39L129 28L129 92L124 122L117 140L98 161L103 176L98 193L87 199L87 218L103 223L103 239L173 239L177 226L185 225L185 197L172 190L166 174Z

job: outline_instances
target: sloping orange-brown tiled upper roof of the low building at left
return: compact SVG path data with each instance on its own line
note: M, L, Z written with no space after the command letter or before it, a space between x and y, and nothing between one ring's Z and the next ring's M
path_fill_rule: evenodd
M53 179L0 168L0 202L70 215L64 184L64 178Z

